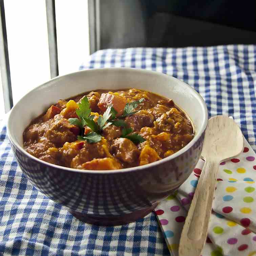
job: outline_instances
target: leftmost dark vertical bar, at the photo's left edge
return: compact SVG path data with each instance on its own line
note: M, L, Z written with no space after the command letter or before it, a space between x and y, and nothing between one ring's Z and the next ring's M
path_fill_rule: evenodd
M5 113L7 113L13 107L13 93L10 80L10 65L3 0L0 0L0 9L0 67L3 86L4 109Z

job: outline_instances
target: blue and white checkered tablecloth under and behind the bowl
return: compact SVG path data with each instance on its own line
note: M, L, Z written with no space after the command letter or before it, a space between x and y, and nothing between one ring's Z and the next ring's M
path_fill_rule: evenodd
M95 52L80 69L135 67L193 86L210 116L232 115L256 151L256 46L129 48ZM153 213L117 227L72 217L22 174L0 127L0 255L169 255Z

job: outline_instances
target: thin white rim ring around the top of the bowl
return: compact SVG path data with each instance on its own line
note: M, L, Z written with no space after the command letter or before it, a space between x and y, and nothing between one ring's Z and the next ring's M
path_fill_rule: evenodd
M179 83L182 83L184 84L185 86L189 87L189 89L192 91L193 93L193 96L198 100L200 101L201 105L203 106L204 108L204 117L205 119L202 120L203 122L203 125L202 125L202 128L197 131L197 133L195 134L194 138L192 139L192 141L190 141L184 148L178 150L176 153L170 155L170 156L167 156L161 160L158 160L156 162L153 162L153 163L150 163L150 164L146 164L146 165L142 165L142 166L135 166L135 167L130 167L130 168L124 168L124 169L117 169L117 170L84 170L84 169L74 169L74 168L69 168L69 167L64 167L64 166L60 166L60 165L54 165L54 164L50 164L48 162L45 162L33 155L30 155L27 151L25 151L25 149L23 147L20 146L20 144L18 142L16 142L16 140L13 138L12 134L10 133L10 130L9 130L9 122L10 122L10 119L12 118L12 112L13 112L13 109L15 109L15 107L23 100L23 98L33 92L34 90L37 90L39 87L41 86L44 86L44 85L47 85L49 82L51 81L54 81L54 80L57 80L59 78L62 78L62 77L66 77L66 76L69 76L69 75L72 75L72 74L76 74L76 73L79 73L79 72L97 72L98 70L102 70L102 69L109 69L109 70L115 70L115 71L119 71L119 70L132 70L132 71L135 71L135 72L145 72L145 73L151 73L151 74L157 74L159 76L167 76L167 77L171 77L172 79L174 80L177 80ZM72 97L72 96L71 96ZM182 106L181 106L182 107ZM201 135L204 133L204 131L206 130L206 127L207 127L207 124L208 124L208 110L207 110L207 106L206 106L206 103L204 101L204 99L201 97L201 95L194 89L192 88L191 86L189 86L188 84L186 84L185 82L183 82L182 80L179 80L175 77L172 77L172 76L169 76L168 74L164 74L164 73L161 73L161 72L157 72L157 71L152 71L152 70L147 70L147 69L139 69L139 68L129 68L129 67L119 67L119 68L115 68L115 67L110 67L110 68L92 68L92 69L84 69L84 70L79 70L79 71L76 71L76 72L72 72L72 73L68 73L68 74L64 74L62 76L58 76L58 77L55 77L37 87L35 87L34 89L30 90L28 93L26 93L17 103L16 105L10 110L9 112L9 115L8 115L8 119L7 119L7 135L9 137L9 140L12 141L12 143L15 145L15 147L17 147L23 154L25 154L28 158L31 158L41 164L44 164L46 166L48 166L49 168L50 167L53 167L53 168L58 168L58 169L62 169L62 170L65 170L65 171L71 171L71 172L81 172L81 173L90 173L90 174L97 174L97 173L100 173L100 174L115 174L115 173L127 173L127 172L134 172L134 171L137 171L137 170L143 170L143 169L147 169L147 168L152 168L152 167L155 167L159 164L164 164L166 162L169 162L170 160L176 158L177 156L185 153L187 150L189 150L191 147L193 147L193 145L197 142L197 140L201 137Z

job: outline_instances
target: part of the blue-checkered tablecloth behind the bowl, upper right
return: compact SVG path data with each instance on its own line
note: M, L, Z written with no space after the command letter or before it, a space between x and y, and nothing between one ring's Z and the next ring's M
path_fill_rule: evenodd
M145 68L183 80L204 98L209 117L233 116L256 150L256 45L107 49L80 70L103 67Z

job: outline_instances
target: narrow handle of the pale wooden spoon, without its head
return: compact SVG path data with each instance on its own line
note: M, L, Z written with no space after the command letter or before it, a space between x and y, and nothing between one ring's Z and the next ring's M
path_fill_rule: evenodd
M205 163L180 237L179 256L201 254L207 237L217 172L218 163Z

